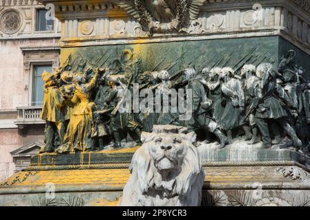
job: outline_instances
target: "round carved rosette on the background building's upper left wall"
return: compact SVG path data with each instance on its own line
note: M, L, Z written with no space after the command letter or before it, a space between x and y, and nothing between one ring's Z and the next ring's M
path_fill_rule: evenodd
M0 27L6 34L14 34L21 28L21 14L16 10L8 10L0 17Z

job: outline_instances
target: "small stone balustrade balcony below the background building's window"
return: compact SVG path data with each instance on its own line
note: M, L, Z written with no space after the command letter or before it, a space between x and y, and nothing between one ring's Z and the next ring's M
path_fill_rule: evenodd
M15 124L19 127L31 124L45 124L45 121L40 119L41 111L41 106L17 107L17 121Z

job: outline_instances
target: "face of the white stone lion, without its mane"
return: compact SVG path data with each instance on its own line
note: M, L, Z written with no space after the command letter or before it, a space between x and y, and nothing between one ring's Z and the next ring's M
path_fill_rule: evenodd
M155 167L160 170L173 170L180 167L186 153L186 140L175 134L155 135L148 143Z

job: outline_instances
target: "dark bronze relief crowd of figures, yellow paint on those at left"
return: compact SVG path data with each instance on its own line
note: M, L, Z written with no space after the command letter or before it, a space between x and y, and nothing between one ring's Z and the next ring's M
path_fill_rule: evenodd
M41 153L86 152L98 147L104 150L110 140L117 148L128 134L140 144L142 129L151 132L156 124L185 125L189 130L204 131L206 144L210 143L209 135L213 133L221 147L232 142L234 129L243 129L248 144L260 142L260 131L266 148L285 143L280 147L293 146L296 150L304 147L304 151L308 151L310 83L302 78L304 69L296 66L295 59L296 52L289 51L280 61L278 71L270 63L262 63L257 68L244 65L240 76L231 67L205 67L201 74L188 67L170 76L166 70L155 71L159 66L153 72L142 72L145 67L142 56L134 56L133 50L123 50L121 58L113 62L115 67L110 66L109 71L107 68L93 71L84 66L81 69L86 69L86 74L73 74L67 68L57 70L56 74L44 72L41 118L46 120L46 145ZM143 113L133 111L136 82L140 91L150 89L152 96L157 91L161 96L160 112L155 111L158 110L156 93L152 97L153 109ZM172 111L180 100L188 101L187 96L172 100L175 98L173 89L191 89L191 120L180 120L178 108L177 112ZM127 92L130 96L126 96ZM162 102L164 96L168 97L168 102ZM138 98L139 104L148 100L148 97ZM126 100L130 100L130 109L119 111ZM168 112L163 111L166 107Z

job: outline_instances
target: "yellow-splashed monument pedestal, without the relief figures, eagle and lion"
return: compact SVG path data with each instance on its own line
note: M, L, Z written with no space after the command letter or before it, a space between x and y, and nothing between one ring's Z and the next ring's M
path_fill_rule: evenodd
M197 72L230 66L237 73L246 63L278 65L288 50L296 50L298 64L310 69L305 1L266 0L256 7L257 1L205 1L185 29L165 33L146 31L130 8L116 1L41 2L55 4L61 63L70 58L74 72L83 70L81 63L110 65L127 49L141 58L142 72L168 69L171 76L188 65ZM246 143L199 148L206 173L203 206L309 204L310 158L302 153ZM26 170L0 184L0 205L115 205L134 151L37 155Z

